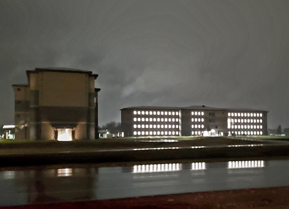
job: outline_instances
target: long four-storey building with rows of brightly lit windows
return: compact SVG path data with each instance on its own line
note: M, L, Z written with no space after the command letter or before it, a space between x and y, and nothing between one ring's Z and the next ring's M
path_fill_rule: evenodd
M267 111L191 107L121 109L125 136L267 135Z

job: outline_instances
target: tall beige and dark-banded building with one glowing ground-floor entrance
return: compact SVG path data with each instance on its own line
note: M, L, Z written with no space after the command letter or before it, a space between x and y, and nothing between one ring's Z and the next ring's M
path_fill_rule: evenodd
M98 138L97 74L70 68L26 71L28 84L15 93L16 140Z

